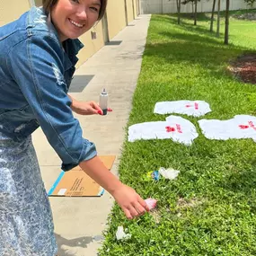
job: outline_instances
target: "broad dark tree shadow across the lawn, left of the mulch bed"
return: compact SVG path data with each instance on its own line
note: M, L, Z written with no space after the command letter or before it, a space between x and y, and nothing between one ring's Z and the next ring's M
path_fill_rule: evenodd
M213 71L217 66L222 65L223 62L228 62L249 50L225 47L216 40L201 37L197 34L188 35L168 31L160 33L171 41L148 44L144 55L148 57L162 57L166 63L179 62L181 64L181 62L186 62L201 64L206 65L208 69Z

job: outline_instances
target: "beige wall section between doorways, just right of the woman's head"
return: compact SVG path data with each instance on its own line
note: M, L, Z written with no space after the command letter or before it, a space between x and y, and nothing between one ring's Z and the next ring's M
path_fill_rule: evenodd
M107 17L110 40L126 25L125 0L109 0Z

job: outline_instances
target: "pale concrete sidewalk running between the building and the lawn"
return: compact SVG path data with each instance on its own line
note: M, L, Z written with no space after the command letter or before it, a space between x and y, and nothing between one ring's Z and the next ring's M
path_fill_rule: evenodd
M141 15L75 72L70 94L80 101L99 101L102 88L110 94L112 113L107 116L77 116L84 137L93 141L98 154L116 154L112 172L117 173L124 128L137 86L146 44L150 15ZM87 85L86 85L87 84ZM84 86L86 87L84 88ZM42 131L33 135L46 189L56 181L60 160ZM101 198L50 198L58 256L94 256L102 243L102 230L113 204L110 194Z

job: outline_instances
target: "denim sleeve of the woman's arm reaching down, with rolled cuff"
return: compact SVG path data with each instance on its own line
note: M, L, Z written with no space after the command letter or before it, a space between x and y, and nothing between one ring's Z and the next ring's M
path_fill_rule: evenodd
M93 143L83 138L66 94L63 52L57 40L48 35L31 36L9 53L8 65L40 123L49 144L68 171L97 153Z

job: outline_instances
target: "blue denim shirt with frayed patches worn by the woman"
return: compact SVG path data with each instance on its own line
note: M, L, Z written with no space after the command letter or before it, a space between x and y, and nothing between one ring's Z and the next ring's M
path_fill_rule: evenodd
M67 96L82 47L79 40L62 45L42 8L0 28L0 132L22 141L41 127L64 171L97 154Z

